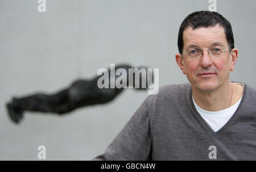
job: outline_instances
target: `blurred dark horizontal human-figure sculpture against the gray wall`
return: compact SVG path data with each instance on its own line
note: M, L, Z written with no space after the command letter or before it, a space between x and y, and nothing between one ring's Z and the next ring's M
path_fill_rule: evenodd
M131 68L131 66L115 66L116 70L118 68L123 68L126 70L128 86L129 75L131 75L129 74L128 69ZM147 70L147 67L138 68L145 68ZM108 71L110 71L110 69ZM32 94L31 96L25 96L21 98L14 97L11 102L6 104L9 117L13 122L19 123L20 120L23 118L23 112L25 110L65 114L82 106L105 104L112 101L119 93L123 91L124 88L98 88L97 81L100 77L101 76L98 75L91 80L76 80L70 85L70 87L63 89L56 94L36 93ZM119 78L119 76L115 75L115 80L117 80L117 78ZM133 87L135 83L134 78L135 77L133 74ZM142 80L143 78L140 75L139 88L137 89L145 89L141 87ZM147 87L148 85L146 85L146 88Z

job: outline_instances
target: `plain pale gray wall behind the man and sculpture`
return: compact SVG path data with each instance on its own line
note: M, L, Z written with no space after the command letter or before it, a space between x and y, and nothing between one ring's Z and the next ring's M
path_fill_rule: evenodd
M0 1L0 160L91 160L104 153L148 96L126 89L105 105L59 117L25 112L16 125L5 104L13 96L55 93L78 78L90 79L110 63L159 68L159 85L186 83L175 62L181 21L208 10L208 0ZM256 1L217 1L233 27L238 61L230 80L256 88Z

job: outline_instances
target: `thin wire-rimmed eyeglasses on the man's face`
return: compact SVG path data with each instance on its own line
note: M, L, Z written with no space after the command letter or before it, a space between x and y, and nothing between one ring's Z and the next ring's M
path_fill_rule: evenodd
M198 59L201 57L201 55L203 55L203 50L208 50L208 54L210 55L210 57L212 58L219 58L221 57L226 51L229 51L229 50L224 50L223 47L221 46L212 46L211 48L209 49L200 49L200 48L190 48L188 49L185 53L183 54L186 54L186 56L190 59ZM182 55L183 55L182 54ZM183 58L183 56L182 56Z

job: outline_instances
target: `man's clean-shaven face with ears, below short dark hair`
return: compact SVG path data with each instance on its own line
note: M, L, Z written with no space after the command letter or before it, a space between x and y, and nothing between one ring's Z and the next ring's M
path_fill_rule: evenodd
M229 49L224 28L218 24L214 27L201 27L194 30L188 27L183 32L183 40L183 53L193 47L209 49L217 45L224 50ZM233 49L232 53L229 52L225 51L221 57L212 58L208 50L203 50L203 55L198 59L189 59L186 54L182 59L181 54L176 54L176 61L183 74L187 75L192 87L203 92L213 91L225 82L229 82L229 72L234 70L237 49Z

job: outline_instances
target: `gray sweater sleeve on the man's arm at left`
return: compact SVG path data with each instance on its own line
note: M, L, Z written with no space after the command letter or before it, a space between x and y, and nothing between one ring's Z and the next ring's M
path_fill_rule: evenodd
M105 153L93 160L150 160L150 151L151 135L147 98L106 148Z

